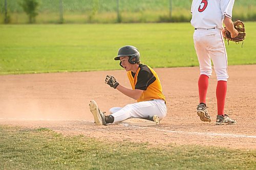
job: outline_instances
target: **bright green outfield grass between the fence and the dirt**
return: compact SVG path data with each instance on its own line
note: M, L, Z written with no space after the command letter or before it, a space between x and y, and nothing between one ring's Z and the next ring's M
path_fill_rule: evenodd
M229 65L256 63L256 24L243 48L230 42ZM120 69L119 47L137 46L152 67L197 66L190 23L0 25L0 74ZM227 44L227 42L226 42Z

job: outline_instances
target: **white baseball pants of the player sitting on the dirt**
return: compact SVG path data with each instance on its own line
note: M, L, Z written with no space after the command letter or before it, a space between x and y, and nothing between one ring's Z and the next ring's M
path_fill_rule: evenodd
M160 99L129 104L123 108L113 107L110 109L110 114L114 117L114 123L130 117L146 118L154 115L158 115L161 120L166 116L166 112L165 102Z

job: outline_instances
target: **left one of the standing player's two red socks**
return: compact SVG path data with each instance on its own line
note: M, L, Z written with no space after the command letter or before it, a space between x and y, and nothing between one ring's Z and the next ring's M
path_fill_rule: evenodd
M198 80L199 102L206 104L206 93L209 85L209 77L200 75Z

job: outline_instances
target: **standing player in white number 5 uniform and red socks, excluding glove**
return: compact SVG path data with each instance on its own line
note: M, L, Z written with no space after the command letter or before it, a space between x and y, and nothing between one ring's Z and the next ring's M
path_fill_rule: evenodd
M238 31L234 29L232 8L234 0L193 0L191 6L191 25L195 28L194 43L200 64L200 77L198 80L200 104L197 107L197 114L204 122L211 122L206 107L206 93L208 80L211 76L211 60L214 64L217 75L217 106L218 115L216 125L236 124L224 113L224 105L227 91L227 52L223 40L224 28L236 37Z

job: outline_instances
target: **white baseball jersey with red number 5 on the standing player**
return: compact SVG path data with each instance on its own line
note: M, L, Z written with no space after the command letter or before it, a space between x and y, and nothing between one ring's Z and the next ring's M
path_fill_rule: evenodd
M224 16L231 19L234 0L193 0L191 25L194 28L222 28Z

